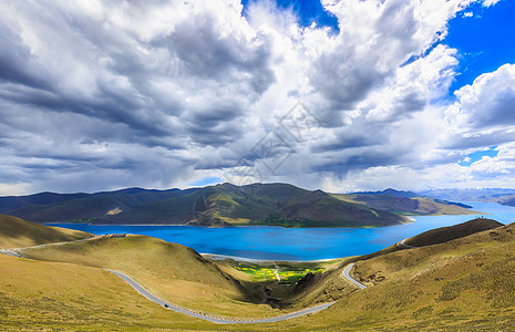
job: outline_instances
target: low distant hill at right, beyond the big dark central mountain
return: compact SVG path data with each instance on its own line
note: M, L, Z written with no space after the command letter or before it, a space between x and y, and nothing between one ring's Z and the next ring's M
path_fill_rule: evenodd
M436 203L424 197L396 197L392 195L364 195L364 194L333 194L333 197L358 204L364 204L368 207L381 209L401 215L474 215L473 211L456 205L446 205Z

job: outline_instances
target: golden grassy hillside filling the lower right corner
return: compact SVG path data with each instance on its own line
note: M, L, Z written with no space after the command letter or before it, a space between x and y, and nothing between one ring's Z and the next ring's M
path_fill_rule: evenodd
M327 293L340 292L338 303L309 320L299 320L296 328L515 329L513 224L441 245L361 260L356 262L353 276L368 288L358 291L346 280L338 287L339 273L333 272L321 282ZM278 324L276 329L286 326Z

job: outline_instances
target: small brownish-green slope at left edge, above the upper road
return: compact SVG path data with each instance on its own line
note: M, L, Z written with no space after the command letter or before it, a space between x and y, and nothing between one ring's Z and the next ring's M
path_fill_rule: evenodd
M0 215L0 248L29 247L93 237L89 232L47 227L4 215Z

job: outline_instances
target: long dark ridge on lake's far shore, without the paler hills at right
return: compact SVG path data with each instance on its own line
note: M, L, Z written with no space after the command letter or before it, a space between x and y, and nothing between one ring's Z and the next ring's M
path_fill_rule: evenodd
M64 198L63 198L64 199ZM107 215L109 211L121 211ZM27 205L12 215L37 222L93 219L97 224L196 226L277 225L363 227L406 222L403 217L287 184L230 184L189 190L126 189L48 205Z

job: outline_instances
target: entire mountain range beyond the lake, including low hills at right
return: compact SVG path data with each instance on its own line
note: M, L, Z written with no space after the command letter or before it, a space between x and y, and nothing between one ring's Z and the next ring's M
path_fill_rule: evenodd
M0 197L0 214L40 224L379 227L409 222L402 215L476 214L467 208L411 191L328 194L288 184Z

